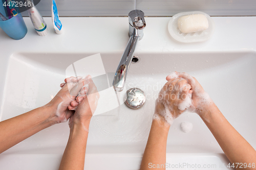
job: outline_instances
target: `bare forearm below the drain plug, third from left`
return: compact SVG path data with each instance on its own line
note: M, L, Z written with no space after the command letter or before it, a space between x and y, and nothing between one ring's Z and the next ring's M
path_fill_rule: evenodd
M152 169L154 165L166 163L166 142L169 125L160 120L153 119L150 135L141 161L140 170ZM157 167L157 166L156 166ZM165 169L156 168L156 169Z

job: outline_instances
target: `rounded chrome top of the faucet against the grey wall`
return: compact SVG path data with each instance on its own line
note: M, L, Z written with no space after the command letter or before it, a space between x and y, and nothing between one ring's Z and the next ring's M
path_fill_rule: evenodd
M129 23L136 30L142 30L146 27L144 12L141 10L133 10L129 12Z

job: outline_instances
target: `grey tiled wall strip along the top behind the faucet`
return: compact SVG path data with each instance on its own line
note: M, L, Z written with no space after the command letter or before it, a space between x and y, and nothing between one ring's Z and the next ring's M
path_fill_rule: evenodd
M255 0L56 0L56 3L60 16L127 16L135 8L145 16L173 16L185 11L202 11L210 16L256 16ZM41 0L36 7L42 16L51 16L50 0Z

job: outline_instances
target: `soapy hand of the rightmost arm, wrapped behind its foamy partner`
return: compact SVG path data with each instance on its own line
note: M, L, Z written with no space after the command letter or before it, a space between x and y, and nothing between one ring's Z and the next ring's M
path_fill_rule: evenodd
M198 113L201 117L207 120L205 115L210 110L217 108L214 102L210 99L208 93L206 93L200 83L196 78L186 74L185 72L173 72L166 77L166 80L172 80L174 78L186 79L188 84L191 85L191 90L193 90L191 99L192 105L190 107L191 111Z

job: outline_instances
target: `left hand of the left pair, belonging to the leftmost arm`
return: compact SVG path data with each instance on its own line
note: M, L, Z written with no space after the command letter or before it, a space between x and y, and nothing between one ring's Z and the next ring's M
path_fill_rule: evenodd
M67 122L70 116L74 113L73 110L69 110L71 103L76 100L78 94L86 95L86 81L91 79L91 76L87 77L71 77L65 79L65 84L61 84L62 87L55 97L45 106L50 107L51 113L50 118L54 120L55 123ZM74 102L73 102L74 103Z

